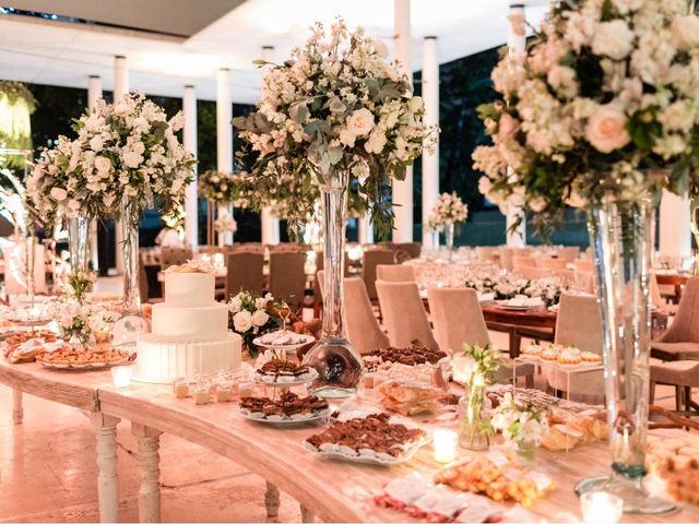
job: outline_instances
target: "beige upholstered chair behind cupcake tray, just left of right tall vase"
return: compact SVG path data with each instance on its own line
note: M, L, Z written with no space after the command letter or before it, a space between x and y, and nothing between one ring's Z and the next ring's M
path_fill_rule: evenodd
M554 343L602 355L604 332L596 297L561 295ZM558 391L585 395L604 392L602 370L571 373L570 382L565 372L546 369L544 374L548 385Z

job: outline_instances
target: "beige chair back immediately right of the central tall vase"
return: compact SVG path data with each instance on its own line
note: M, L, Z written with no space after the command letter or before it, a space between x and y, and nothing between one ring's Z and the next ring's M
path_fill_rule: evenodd
M322 272L319 272L319 275L320 273ZM379 321L374 314L364 281L345 278L344 294L345 333L355 349L360 355L365 355L375 349L389 347L389 337L381 331Z

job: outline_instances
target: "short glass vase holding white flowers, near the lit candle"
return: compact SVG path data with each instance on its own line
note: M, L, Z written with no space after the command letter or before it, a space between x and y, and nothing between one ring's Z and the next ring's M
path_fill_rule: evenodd
M486 344L461 346L461 353L451 355L451 369L455 382L464 385L464 396L459 402L459 442L469 450L488 446L489 425L483 420L485 386L500 368L500 352Z

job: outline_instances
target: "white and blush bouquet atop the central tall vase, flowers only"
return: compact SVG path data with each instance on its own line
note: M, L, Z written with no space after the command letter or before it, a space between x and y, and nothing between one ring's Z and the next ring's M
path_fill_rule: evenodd
M425 107L408 79L384 57L383 43L363 28L351 33L339 19L329 34L317 23L283 64L258 62L269 66L261 102L234 124L260 155L257 193L285 188L293 198L289 218L315 216L308 195L347 172L379 233L391 230L390 182L405 177L435 130L423 123Z

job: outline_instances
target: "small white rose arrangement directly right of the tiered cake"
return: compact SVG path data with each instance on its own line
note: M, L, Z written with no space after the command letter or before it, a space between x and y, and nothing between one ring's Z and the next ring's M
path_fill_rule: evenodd
M251 357L258 355L258 348L252 341L283 325L283 320L274 306L274 297L269 293L264 297L259 297L240 290L230 297L228 311L229 327L242 337L242 343Z

